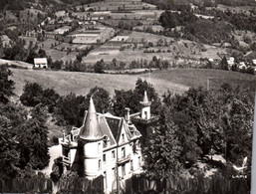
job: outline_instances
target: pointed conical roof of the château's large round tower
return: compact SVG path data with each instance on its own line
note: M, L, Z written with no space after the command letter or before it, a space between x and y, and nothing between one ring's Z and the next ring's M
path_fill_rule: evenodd
M100 129L99 121L97 118L94 100L91 97L85 123L80 130L80 138L85 140L99 140L102 139L103 136L104 135Z

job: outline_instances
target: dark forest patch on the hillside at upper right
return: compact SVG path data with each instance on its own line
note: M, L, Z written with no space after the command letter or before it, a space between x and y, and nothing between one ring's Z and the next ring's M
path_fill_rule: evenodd
M230 11L209 11L209 13L204 14L215 16L215 18L212 20L198 18L194 16L191 10L188 12L180 11L180 13L165 11L161 14L159 22L165 28L163 32L165 36L177 36L204 44L228 42L235 47L237 43L232 40L231 36L234 30L256 32L255 16L248 16L243 13L234 14ZM181 30L177 31L176 27L181 27Z

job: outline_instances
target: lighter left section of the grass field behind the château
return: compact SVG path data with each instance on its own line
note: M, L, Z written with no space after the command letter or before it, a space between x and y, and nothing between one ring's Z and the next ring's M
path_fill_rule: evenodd
M86 96L90 89L98 86L103 87L110 92L111 96L115 90L134 89L137 78L146 79L148 75L106 75L74 72L54 72L54 71L28 71L11 69L15 83L15 94L20 96L26 83L38 83L44 88L56 90L60 95L75 93ZM182 93L188 90L188 87L171 82L165 82L162 79L150 79L157 93L162 95L167 89L174 93Z

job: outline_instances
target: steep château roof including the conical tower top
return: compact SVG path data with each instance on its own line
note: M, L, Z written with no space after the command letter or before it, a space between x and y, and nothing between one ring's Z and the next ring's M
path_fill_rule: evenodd
M97 113L91 97L89 109L85 111L82 127L75 127L71 133L75 141L79 138L87 141L104 140L104 148L108 148L117 145L123 128L128 134L128 140L141 136L135 126L128 124L124 117L115 116L111 113Z

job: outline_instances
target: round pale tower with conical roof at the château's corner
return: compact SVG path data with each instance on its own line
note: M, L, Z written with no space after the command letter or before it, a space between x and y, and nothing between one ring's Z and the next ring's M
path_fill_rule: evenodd
M84 175L89 179L101 174L103 139L104 134L101 131L95 104L91 97L86 119L79 134L79 148L83 152L80 156L82 157L81 164L84 168Z

